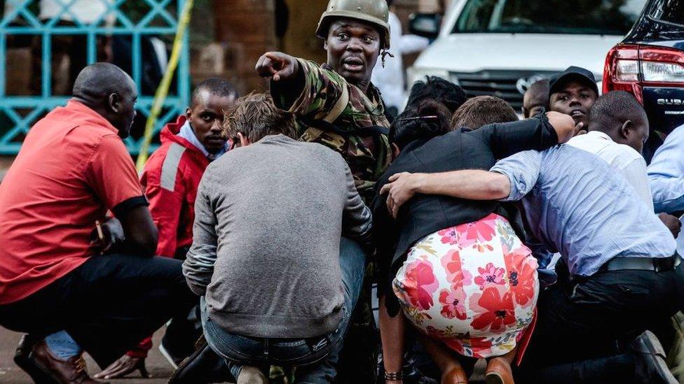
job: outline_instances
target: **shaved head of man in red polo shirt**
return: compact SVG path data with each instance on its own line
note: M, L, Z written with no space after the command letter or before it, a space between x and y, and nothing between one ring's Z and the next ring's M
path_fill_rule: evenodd
M114 125L119 136L128 136L137 99L137 87L128 73L114 64L90 64L78 73L73 95Z

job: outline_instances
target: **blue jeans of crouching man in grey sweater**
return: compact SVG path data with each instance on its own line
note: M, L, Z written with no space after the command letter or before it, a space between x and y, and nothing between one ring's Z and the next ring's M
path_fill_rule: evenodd
M336 376L336 364L342 349L351 314L363 285L366 253L358 243L342 238L340 241L340 269L344 285L343 316L334 332L308 339L262 339L231 334L214 325L202 304L202 325L210 347L228 362L235 378L242 365L266 371L278 365L297 367L296 383L331 383Z

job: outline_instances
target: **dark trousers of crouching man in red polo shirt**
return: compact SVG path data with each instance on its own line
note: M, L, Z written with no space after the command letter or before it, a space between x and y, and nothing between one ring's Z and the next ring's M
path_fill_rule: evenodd
M0 325L34 336L65 329L107 367L196 302L179 260L93 256L29 297L0 306Z

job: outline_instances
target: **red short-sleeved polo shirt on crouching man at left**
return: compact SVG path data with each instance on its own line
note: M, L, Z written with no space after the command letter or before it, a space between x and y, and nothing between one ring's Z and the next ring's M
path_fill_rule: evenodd
M147 202L116 128L77 101L55 108L29 131L0 184L0 304L86 262L95 220L140 204Z

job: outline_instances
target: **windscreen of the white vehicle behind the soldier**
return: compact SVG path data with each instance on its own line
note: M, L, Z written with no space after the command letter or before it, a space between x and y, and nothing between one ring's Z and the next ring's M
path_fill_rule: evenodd
M468 0L452 32L622 36L634 24L644 3L645 0Z

